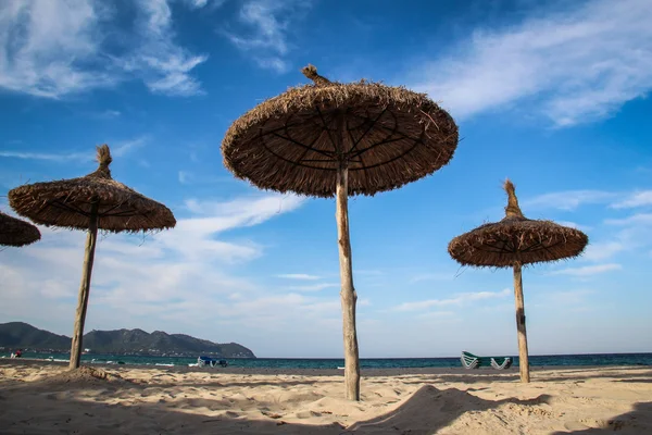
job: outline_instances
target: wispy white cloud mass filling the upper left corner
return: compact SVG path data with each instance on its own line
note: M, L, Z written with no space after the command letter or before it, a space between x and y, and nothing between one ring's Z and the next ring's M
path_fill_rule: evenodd
M166 0L138 2L135 29L118 29L98 0L7 0L0 9L0 88L61 98L141 78L153 92L201 92L191 71L208 58L173 41ZM106 45L108 33L124 46ZM117 51L116 51L117 50Z

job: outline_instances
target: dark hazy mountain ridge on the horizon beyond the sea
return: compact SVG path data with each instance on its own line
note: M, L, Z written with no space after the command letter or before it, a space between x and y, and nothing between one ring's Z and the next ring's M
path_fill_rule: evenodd
M71 338L38 330L27 323L0 324L0 347L68 351ZM216 344L184 334L142 330L91 331L84 335L84 347L93 353L212 355L222 358L255 358L237 343Z

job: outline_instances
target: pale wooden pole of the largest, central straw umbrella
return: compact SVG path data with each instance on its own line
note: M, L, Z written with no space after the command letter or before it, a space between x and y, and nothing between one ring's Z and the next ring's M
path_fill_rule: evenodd
M343 156L344 115L337 117L337 144L339 165L337 171L337 236L340 260L342 303L342 332L344 335L344 388L349 400L360 400L360 358L358 352L358 332L355 330L355 303L358 295L353 287L353 266L351 262L351 240L349 238L349 167Z

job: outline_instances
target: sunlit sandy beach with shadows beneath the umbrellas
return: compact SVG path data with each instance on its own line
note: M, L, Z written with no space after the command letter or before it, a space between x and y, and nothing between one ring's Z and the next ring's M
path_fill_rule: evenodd
M529 385L513 369L369 370L360 402L335 371L91 370L1 361L0 433L652 433L644 366L539 369Z

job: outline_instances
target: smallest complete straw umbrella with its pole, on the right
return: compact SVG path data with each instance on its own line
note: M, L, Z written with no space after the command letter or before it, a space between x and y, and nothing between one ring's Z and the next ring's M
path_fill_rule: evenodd
M505 217L457 236L448 250L463 265L480 268L513 268L514 296L516 299L516 328L518 331L518 365L521 381L529 382L527 333L523 302L523 265L557 261L577 257L589 243L579 229L555 224L551 221L535 221L523 215L514 185L505 181L507 207Z

